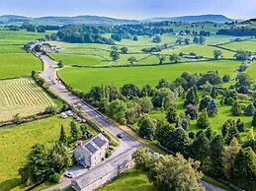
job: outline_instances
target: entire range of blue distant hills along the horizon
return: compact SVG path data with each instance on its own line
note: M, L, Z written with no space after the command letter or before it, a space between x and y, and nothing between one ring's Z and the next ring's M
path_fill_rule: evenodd
M22 25L28 22L33 25L57 25L64 26L69 24L86 24L86 25L128 25L140 24L141 22L185 22L185 23L198 23L198 22L213 22L225 23L232 22L233 20L222 15L201 15L201 16L183 16L183 17L166 17L166 18L152 18L142 21L114 19L100 16L76 16L76 17L42 17L30 18L15 15L0 16L0 25Z

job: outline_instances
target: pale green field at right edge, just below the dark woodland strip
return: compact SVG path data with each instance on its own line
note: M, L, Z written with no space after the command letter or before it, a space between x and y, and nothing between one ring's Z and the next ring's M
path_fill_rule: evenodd
M238 49L242 49L242 50L256 52L256 40L231 42L221 46L224 48L232 49L234 51Z

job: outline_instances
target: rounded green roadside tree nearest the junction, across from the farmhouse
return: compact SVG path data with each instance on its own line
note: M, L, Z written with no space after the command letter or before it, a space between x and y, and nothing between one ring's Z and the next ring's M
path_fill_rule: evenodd
M141 116L138 121L138 135L142 138L153 140L156 124L147 114Z

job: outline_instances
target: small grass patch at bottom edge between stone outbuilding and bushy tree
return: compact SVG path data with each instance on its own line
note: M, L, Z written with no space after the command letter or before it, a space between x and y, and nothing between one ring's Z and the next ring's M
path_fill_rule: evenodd
M111 181L99 191L156 191L148 181L147 175L138 170L130 169L117 179Z

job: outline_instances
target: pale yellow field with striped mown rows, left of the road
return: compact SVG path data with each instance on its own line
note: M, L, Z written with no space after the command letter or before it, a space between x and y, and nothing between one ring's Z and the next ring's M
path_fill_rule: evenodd
M20 113L29 116L43 111L54 101L32 79L0 81L0 121L10 120Z

